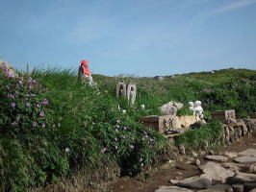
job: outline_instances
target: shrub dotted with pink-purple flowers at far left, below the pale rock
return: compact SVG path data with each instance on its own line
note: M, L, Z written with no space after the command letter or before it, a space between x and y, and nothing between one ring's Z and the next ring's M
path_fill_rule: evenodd
M46 89L29 76L1 77L0 132L43 132L52 129L52 111L46 108Z

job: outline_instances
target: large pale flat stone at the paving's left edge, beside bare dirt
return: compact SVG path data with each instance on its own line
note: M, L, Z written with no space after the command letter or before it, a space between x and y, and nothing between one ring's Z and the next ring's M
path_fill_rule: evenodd
M199 167L204 174L212 180L218 180L222 183L229 177L233 177L235 172L229 169L224 169L218 163L207 162L205 165Z

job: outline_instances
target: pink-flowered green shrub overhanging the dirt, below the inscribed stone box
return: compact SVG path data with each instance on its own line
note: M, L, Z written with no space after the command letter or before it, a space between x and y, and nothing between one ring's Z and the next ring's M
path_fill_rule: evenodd
M115 156L125 175L136 175L153 165L160 148L167 146L158 132L127 120L116 120L114 126L99 126L97 132L103 146L101 153Z

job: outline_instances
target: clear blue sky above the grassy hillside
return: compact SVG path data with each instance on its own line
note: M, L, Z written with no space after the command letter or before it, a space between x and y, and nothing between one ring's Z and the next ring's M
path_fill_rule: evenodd
M0 0L0 60L115 76L256 69L256 0Z

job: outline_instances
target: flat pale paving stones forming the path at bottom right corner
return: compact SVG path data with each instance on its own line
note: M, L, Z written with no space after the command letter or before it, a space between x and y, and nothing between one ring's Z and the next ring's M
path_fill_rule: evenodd
M238 156L238 157L237 157ZM253 192L256 191L256 149L222 156L205 156L198 168L201 175L169 180L172 186L160 186L155 192Z

